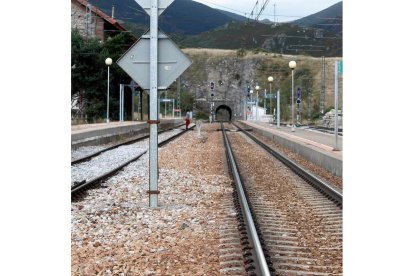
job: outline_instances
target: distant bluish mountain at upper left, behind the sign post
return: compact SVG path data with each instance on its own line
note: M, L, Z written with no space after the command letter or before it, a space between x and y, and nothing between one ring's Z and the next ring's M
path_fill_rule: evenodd
M140 29L149 28L149 16L135 0L89 0L89 2L107 14L111 14L114 5L115 19L137 24ZM175 0L160 15L158 24L167 34L195 35L243 19L236 14L213 9L191 0Z

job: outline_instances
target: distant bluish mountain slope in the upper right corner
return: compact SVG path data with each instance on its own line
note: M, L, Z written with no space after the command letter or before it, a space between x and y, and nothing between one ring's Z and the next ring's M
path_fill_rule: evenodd
M342 1L292 23L304 27L324 29L342 36Z

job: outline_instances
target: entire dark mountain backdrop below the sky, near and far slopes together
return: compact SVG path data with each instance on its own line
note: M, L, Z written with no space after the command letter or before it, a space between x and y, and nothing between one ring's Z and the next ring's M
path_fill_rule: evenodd
M149 16L135 0L89 1L109 15L114 5L115 19L137 38L149 29ZM159 18L160 29L183 48L250 49L327 57L342 55L341 24L342 2L277 26L249 21L191 0L175 0Z

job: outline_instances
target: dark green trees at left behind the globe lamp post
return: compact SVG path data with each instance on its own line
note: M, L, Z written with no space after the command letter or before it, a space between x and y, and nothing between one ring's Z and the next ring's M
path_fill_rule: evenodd
M111 57L110 68L110 114L118 106L115 97L120 83L129 83L129 76L116 64L116 60L128 49L135 38L129 33L121 33L108 38L104 44L96 39L86 42L76 29L72 30L72 99L77 99L81 115L88 121L106 117L107 105L107 66L105 59ZM111 93L112 92L112 93Z

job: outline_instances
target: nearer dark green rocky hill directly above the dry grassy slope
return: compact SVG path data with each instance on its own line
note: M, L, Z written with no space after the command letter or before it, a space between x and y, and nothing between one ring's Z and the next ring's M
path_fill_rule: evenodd
M342 39L326 31L322 37L309 27L283 23L233 22L179 41L183 48L248 49L280 54L342 56Z

